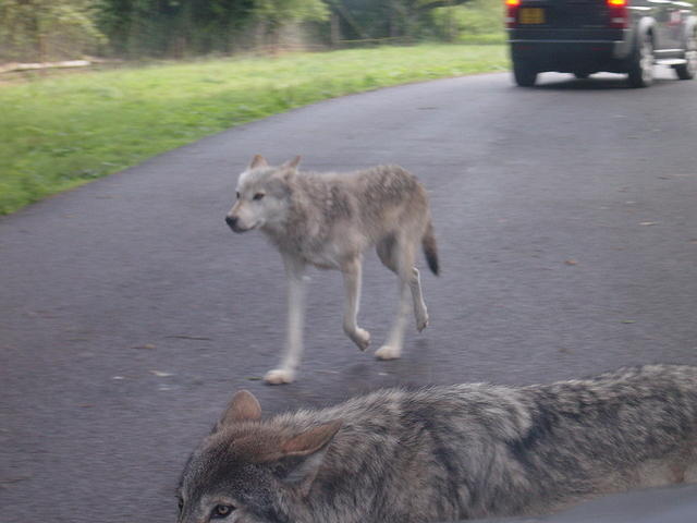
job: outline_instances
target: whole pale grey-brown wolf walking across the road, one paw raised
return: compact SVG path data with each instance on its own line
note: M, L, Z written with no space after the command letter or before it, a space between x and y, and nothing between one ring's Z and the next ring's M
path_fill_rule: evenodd
M270 167L257 155L237 181L237 200L225 217L235 232L259 229L281 253L288 278L285 352L269 384L294 380L303 352L307 265L339 269L346 292L343 328L362 351L370 335L358 327L363 253L376 246L382 264L400 278L400 304L381 360L400 357L411 302L416 328L428 325L419 271L414 267L420 244L428 266L438 273L438 253L426 191L396 166L354 173L298 172L299 157Z

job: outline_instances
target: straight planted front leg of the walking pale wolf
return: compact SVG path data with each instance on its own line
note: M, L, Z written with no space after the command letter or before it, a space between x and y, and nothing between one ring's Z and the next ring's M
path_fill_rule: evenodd
M269 370L264 380L270 385L290 384L295 379L303 355L303 324L305 318L304 264L294 258L283 257L288 278L288 324L285 348L279 368Z

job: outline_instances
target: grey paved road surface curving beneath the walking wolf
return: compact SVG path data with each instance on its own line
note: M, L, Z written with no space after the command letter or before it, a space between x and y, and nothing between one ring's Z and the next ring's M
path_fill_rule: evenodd
M2 521L168 522L187 453L245 387L269 412L394 384L529 384L697 364L697 82L508 74L415 84L234 129L0 220ZM299 381L279 256L223 222L255 153L399 162L430 191L442 276L396 362L341 331L313 272ZM396 285L367 258L377 345ZM379 345L378 345L379 346Z

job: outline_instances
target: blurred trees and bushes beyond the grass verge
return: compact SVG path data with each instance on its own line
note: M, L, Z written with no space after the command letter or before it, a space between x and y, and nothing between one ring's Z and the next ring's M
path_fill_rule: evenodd
M0 0L0 62L500 40L501 1Z

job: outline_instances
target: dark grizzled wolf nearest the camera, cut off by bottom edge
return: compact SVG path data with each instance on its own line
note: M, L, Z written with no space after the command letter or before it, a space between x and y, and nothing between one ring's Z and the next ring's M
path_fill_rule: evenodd
M697 482L697 367L392 389L268 419L241 391L186 464L179 522L529 515L681 482Z

